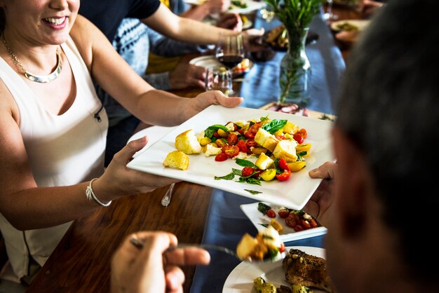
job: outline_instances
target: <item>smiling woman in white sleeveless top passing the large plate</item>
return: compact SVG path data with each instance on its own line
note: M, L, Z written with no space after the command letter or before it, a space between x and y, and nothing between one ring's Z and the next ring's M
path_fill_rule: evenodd
M0 1L0 229L17 281L32 277L30 264L44 264L73 220L176 181L126 167L147 137L130 142L104 168L108 118L93 79L155 125L179 125L211 104L237 107L243 100L218 91L184 98L152 88L77 15L79 5ZM219 32L236 34L195 27L159 5L152 22L170 14L170 21L185 24L170 29L175 37L211 43Z

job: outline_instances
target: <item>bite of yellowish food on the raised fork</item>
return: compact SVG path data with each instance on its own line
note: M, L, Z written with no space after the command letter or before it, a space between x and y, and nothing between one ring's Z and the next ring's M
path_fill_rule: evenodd
M269 226L259 231L256 238L245 233L236 247L239 259L248 261L276 260L283 257L285 245L279 238L279 233Z

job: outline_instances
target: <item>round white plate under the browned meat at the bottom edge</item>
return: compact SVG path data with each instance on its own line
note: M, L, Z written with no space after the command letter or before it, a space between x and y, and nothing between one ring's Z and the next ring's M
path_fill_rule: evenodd
M291 246L286 248L287 250L295 248L307 254L325 258L325 250L323 248L309 246ZM285 271L283 271L282 268L282 261L258 264L257 266L243 261L241 264L238 264L227 277L226 282L224 282L224 287L222 287L222 293L255 293L256 290L253 287L253 280L257 277L262 277L266 282L273 283L276 288L281 285L291 286L285 281ZM318 289L313 289L313 292L325 293L325 291Z

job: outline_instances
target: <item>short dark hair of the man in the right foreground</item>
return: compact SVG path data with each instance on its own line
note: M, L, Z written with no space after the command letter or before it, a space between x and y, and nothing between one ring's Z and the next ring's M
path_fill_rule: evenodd
M374 15L347 60L336 121L370 164L410 273L428 282L439 273L423 240L439 207L438 11L438 0L391 0Z

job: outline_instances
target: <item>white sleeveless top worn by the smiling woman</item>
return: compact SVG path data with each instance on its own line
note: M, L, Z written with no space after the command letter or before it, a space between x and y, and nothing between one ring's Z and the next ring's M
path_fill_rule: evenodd
M0 78L18 105L22 139L35 182L41 187L78 184L100 177L104 172L107 114L70 37L62 44L62 50L76 81L75 100L62 115L46 111L25 81L0 57ZM98 118L95 117L97 112ZM0 214L1 233L18 278L27 275L29 256L44 264L70 224L18 231Z

